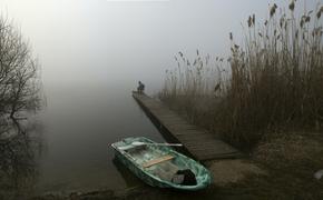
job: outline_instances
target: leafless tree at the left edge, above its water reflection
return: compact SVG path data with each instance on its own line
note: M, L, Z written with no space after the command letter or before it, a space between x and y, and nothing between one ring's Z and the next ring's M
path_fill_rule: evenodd
M19 29L0 17L0 136L8 118L40 108L39 64Z

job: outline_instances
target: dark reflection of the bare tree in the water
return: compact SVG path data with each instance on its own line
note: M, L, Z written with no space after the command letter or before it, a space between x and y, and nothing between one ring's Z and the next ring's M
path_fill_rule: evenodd
M1 119L0 130L0 199L26 198L39 173L41 126L36 120Z

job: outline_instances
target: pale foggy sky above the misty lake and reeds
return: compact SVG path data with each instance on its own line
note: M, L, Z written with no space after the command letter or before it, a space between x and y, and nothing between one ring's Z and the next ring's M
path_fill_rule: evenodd
M273 2L288 1L0 0L0 9L30 40L46 87L158 86L176 52L227 53L228 32L239 36L248 14L266 18Z

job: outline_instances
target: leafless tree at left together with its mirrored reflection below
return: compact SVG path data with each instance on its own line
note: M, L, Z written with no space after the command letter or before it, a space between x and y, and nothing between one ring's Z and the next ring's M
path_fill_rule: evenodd
M0 16L0 199L20 199L16 190L25 190L37 173L41 140L31 137L30 120L19 120L41 107L39 69L20 30Z

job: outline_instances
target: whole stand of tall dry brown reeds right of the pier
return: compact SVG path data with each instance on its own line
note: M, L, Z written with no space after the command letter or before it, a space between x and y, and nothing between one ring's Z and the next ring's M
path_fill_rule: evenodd
M193 122L241 147L253 147L267 130L320 128L323 6L301 16L291 1L286 11L278 12L273 4L264 22L252 14L241 46L229 34L231 57L225 62L217 59L209 68L203 68L203 61L190 66L180 53L183 62L166 74L160 99L173 108L187 107L185 114ZM197 107L202 96L208 102L203 103L207 106L204 111Z

